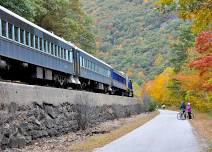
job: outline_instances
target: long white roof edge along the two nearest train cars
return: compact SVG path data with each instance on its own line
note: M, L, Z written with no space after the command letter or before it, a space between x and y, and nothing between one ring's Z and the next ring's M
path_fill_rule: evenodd
M88 55L88 56L90 56L90 57L92 57L92 58L94 58L95 60L101 62L102 64L104 64L104 65L106 65L106 66L112 68L111 65L109 65L109 64L105 63L104 61L102 61L102 60L100 60L100 59L94 57L93 55L87 53L86 51L84 51L84 50L78 48L78 47L77 47L76 45L74 45L73 43L71 43L71 42L69 42L69 41L66 41L65 39L63 39L63 38L61 38L61 37L55 35L55 34L52 33L52 32L49 32L49 31L45 30L44 28L42 28L42 27L40 27L40 26L38 26L38 25L36 25L36 24L30 22L29 20L27 20L27 19L25 19L25 18L23 18L23 17L21 17L21 16L15 14L15 13L13 13L12 11L10 11L10 10L4 8L4 7L1 6L1 5L0 5L0 9L3 10L4 12L10 14L11 16L13 16L13 17L15 17L15 18L17 18L17 19L19 19L19 20L21 20L21 21L23 21L23 22L25 22L25 23L27 23L27 24L29 24L29 25L31 25L31 26L33 26L34 28L37 28L38 30L40 30L40 31L42 31L42 32L44 32L44 33L46 33L46 34L48 34L48 35L50 35L50 36L52 36L52 37L54 37L54 38L56 38L56 39L62 41L62 42L64 42L64 43L66 43L66 44L68 44L68 45L70 45L70 46L72 46L72 47L74 47L75 49L78 49L79 51L85 53L86 55Z

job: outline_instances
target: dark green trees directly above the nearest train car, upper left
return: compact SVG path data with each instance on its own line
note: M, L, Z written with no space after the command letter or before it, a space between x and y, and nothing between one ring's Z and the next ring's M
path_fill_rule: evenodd
M0 0L0 5L95 53L91 19L83 12L79 0Z

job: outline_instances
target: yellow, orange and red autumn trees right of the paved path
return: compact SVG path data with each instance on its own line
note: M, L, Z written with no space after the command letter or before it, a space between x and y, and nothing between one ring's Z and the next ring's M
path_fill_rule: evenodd
M170 6L175 2L159 0L158 4ZM212 111L211 4L211 0L178 1L178 16L191 20L192 32L197 34L195 45L189 49L193 53L187 52L187 60L177 73L172 68L166 68L154 80L147 82L142 94L148 94L153 100L167 105L179 106L185 100L200 111Z

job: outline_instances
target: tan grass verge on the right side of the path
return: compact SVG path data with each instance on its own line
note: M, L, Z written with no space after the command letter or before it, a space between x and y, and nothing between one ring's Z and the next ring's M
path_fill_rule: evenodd
M205 152L212 152L212 113L195 112L195 118L190 122L198 135L207 141Z

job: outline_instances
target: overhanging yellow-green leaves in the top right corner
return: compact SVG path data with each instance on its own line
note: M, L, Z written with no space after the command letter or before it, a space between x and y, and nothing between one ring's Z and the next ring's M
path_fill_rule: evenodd
M158 0L157 6L175 4L178 16L192 21L192 32L198 34L204 30L212 29L212 0Z

